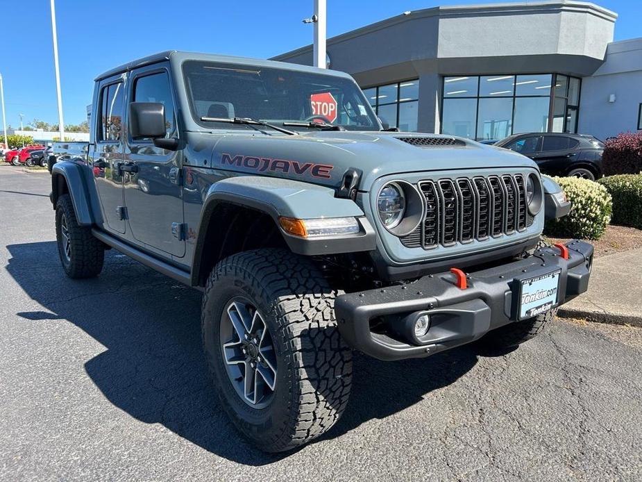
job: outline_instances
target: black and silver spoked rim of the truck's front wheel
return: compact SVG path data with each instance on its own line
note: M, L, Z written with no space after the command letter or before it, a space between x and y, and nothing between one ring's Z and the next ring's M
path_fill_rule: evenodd
M219 330L226 373L237 395L252 408L270 404L276 388L274 342L256 306L243 298L228 301Z

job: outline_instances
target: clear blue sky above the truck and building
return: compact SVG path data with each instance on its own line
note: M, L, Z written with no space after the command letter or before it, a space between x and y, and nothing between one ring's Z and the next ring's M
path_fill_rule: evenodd
M7 124L58 122L49 1L14 0L2 8L0 73ZM85 119L97 74L156 51L178 49L268 58L312 41L312 0L58 0L58 50L65 124ZM475 2L328 0L328 37L438 5ZM601 0L620 15L615 38L642 36L640 0ZM15 26L11 26L12 19ZM1 126L0 126L1 129Z

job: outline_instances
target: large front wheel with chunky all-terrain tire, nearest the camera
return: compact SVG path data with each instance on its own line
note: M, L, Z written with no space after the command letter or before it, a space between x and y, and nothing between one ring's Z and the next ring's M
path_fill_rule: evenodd
M352 353L337 330L335 296L310 260L283 249L235 254L210 274L201 319L205 356L223 408L237 429L264 451L310 442L328 431L346 408ZM239 305L230 308L235 303ZM230 309L235 330L230 329ZM243 316L235 313L240 311L247 322L239 323ZM256 328L249 320L257 314ZM255 353L264 347L258 349L257 342L253 348L247 340L263 338L266 332L271 359L264 368L270 370L259 379L260 396L259 385L248 394L242 377L251 375ZM230 363L238 367L231 375ZM270 373L273 383L267 383Z

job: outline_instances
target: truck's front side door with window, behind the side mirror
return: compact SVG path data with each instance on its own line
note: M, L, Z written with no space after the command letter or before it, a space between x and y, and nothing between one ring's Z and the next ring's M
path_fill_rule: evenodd
M128 102L162 103L165 137L178 138L167 66L137 69L129 85ZM180 258L185 255L180 151L156 147L151 139L133 140L129 133L127 139L124 191L132 241Z

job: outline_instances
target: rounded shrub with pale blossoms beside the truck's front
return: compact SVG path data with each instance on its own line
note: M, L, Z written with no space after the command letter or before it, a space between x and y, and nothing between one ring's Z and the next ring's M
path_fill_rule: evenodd
M588 179L576 177L553 178L573 203L571 213L546 222L546 234L560 238L598 240L611 221L613 210L607 189Z

